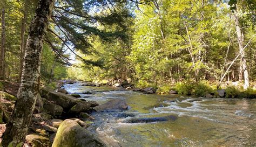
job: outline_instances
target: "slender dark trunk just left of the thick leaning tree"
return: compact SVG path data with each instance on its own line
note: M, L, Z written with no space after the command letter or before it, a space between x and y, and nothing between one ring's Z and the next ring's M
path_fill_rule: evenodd
M20 61L20 66L19 66L18 82L21 82L23 58L24 58L26 19L27 19L27 13L28 13L28 9L26 8L26 5L28 5L28 1L25 1L25 4L24 4L24 16L22 19L22 26L21 26L21 44L19 45L19 48L21 50L21 55L20 55L21 61Z

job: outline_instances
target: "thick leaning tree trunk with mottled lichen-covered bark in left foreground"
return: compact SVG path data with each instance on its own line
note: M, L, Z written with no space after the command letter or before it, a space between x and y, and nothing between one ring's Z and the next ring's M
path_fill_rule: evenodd
M3 135L3 146L13 142L14 146L24 142L31 121L38 92L37 80L40 75L41 52L54 0L41 0L36 15L32 20L26 43L23 62L22 80L17 94L17 101L10 122Z

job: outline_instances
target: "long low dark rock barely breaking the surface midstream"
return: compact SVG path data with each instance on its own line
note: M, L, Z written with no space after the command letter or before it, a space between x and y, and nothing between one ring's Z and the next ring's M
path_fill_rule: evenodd
M165 122L165 121L176 121L178 116L169 115L164 117L149 117L149 118L131 118L123 121L124 123L151 123L151 122Z

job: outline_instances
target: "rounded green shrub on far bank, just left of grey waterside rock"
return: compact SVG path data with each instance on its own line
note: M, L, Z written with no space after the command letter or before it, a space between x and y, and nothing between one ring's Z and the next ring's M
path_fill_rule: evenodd
M207 81L200 81L194 86L194 94L197 96L205 96L213 92L213 88L209 85Z

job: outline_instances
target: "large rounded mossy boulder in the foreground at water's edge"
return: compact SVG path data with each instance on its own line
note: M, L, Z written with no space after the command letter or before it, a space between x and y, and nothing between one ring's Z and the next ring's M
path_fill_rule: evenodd
M106 146L98 137L76 121L65 120L58 128L52 147Z

